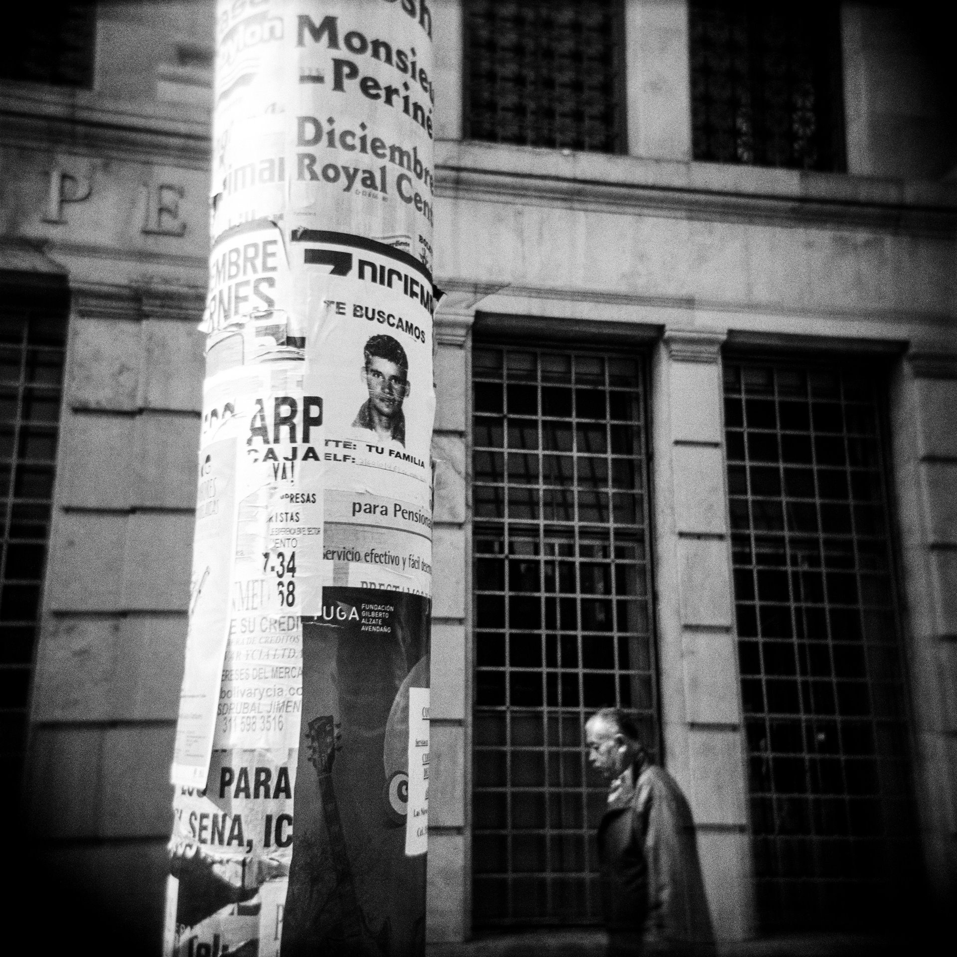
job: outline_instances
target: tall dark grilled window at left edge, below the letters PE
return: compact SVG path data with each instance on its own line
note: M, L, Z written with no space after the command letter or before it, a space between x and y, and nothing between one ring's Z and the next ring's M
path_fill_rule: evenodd
M15 804L50 536L66 320L0 313L0 765Z

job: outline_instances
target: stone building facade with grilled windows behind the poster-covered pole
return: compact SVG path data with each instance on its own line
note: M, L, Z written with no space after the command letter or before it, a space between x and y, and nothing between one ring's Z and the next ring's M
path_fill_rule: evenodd
M689 796L723 940L834 929L880 870L942 907L957 888L957 143L933 24L822 12L830 166L759 163L757 127L718 162L714 6L609 5L610 145L583 149L489 142L490 110L525 126L482 31L521 23L430 4L436 945L595 920L574 728L610 703ZM45 866L158 946L212 5L94 17L88 79L0 81L0 707Z

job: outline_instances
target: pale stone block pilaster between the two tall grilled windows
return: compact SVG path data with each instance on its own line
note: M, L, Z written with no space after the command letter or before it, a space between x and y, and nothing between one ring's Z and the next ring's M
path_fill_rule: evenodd
M653 366L657 647L664 764L688 796L720 940L753 925L724 487L720 333L666 329Z

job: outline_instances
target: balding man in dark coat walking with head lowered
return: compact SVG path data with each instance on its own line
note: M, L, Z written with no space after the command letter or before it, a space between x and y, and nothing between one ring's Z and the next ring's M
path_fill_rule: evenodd
M598 828L609 957L714 953L691 809L652 765L634 720L605 708L585 725L589 760L611 782Z

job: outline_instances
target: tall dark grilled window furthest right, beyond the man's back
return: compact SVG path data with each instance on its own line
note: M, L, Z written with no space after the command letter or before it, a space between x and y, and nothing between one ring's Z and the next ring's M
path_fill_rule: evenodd
M911 873L901 651L875 377L728 362L728 491L757 904L873 925ZM900 901L900 894L897 900Z

